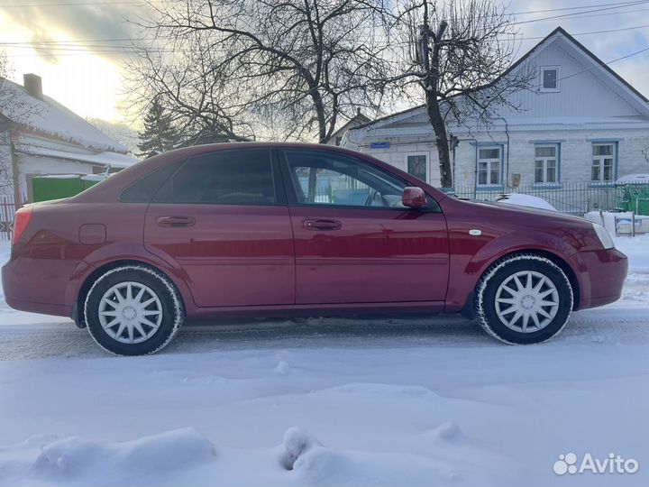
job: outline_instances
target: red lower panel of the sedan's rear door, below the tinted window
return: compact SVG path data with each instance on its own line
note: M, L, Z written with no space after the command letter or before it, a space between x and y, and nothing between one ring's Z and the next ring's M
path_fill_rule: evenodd
M160 226L166 216L189 216L196 223ZM184 270L199 308L295 303L288 207L151 205L144 247Z

